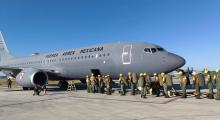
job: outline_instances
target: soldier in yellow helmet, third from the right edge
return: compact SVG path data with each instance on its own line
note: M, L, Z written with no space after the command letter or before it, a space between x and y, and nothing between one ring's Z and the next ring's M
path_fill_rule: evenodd
M200 99L200 85L199 85L199 74L196 74L196 72L192 73L192 79L193 79L193 85L195 87L195 97L196 99Z

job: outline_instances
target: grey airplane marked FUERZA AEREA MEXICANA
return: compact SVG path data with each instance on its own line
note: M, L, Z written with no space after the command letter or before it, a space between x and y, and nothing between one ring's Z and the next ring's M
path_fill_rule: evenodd
M46 85L48 80L58 80L60 87L66 88L67 80L85 83L85 76L91 73L109 74L112 79L128 72L169 73L185 62L161 46L145 42L116 42L16 57L0 32L0 70L14 77L23 90Z

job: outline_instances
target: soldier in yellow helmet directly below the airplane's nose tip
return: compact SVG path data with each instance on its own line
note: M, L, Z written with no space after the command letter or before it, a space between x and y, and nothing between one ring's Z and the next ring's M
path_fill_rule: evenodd
M180 79L180 87L183 92L182 98L187 98L187 95L186 95L187 76L182 70L180 70L178 73L179 73L179 79Z

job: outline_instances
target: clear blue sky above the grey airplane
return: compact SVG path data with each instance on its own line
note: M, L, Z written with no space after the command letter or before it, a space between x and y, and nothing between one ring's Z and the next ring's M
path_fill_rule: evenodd
M17 56L143 41L220 68L220 0L0 0L0 31Z

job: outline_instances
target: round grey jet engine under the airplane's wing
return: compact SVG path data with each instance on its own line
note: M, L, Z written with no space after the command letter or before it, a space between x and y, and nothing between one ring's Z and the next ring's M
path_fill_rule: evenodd
M48 75L46 72L38 69L26 68L17 75L16 81L22 87L41 87L47 84Z

